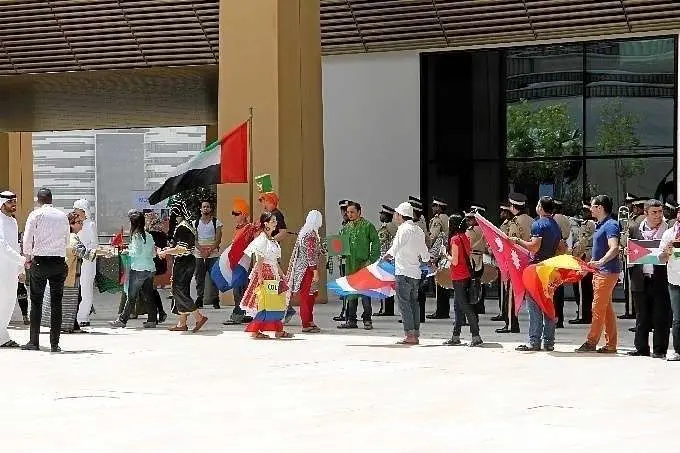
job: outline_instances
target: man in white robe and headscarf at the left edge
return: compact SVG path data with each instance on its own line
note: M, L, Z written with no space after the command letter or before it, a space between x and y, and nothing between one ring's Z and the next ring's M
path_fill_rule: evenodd
M26 278L16 210L17 196L10 191L0 193L0 348L19 347L7 331L17 301L17 285Z

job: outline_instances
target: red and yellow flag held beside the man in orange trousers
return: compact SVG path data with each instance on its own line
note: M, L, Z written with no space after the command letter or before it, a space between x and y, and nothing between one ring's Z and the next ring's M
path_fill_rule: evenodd
M536 301L541 311L555 320L555 290L565 283L576 283L593 269L585 261L571 255L558 255L532 264L524 269L522 281L526 292Z

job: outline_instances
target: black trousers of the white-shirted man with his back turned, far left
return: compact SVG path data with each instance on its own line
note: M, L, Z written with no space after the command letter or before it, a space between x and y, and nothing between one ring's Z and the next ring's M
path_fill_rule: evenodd
M29 272L31 291L31 330L29 342L40 345L40 319L45 287L50 282L50 346L59 346L61 333L61 300L66 281L66 261L59 256L36 256Z

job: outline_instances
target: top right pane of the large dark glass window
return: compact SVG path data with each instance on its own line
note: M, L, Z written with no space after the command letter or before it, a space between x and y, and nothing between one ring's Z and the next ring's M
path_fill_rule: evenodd
M586 153L673 154L675 39L586 44Z

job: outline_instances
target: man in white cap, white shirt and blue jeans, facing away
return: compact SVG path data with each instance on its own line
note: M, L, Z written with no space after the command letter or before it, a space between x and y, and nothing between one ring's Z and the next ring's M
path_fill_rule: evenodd
M399 311L404 324L405 338L399 344L414 345L420 337L420 304L418 287L421 264L430 260L425 243L425 232L413 223L414 210L410 203L401 203L395 210L394 220L399 228L387 258L394 259L396 292Z

